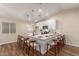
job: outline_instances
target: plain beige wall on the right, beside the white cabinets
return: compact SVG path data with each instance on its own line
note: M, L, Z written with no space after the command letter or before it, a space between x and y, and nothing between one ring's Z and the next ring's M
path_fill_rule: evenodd
M63 10L52 19L57 20L58 31L66 36L66 43L79 47L79 8Z

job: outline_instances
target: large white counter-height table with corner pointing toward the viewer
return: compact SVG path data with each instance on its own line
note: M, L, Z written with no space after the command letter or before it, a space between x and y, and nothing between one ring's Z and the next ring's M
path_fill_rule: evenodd
M55 40L59 34L43 34L43 35L30 35L30 40L36 40L36 42L41 46L41 54L45 54L47 50L47 43L51 43L52 40ZM48 47L49 49L50 47ZM39 46L36 47L37 51Z

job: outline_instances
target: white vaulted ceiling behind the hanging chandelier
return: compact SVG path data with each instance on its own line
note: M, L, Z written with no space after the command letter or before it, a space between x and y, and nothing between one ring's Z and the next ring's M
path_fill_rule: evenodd
M0 3L0 17L11 18L15 20L28 21L27 14L30 15L31 21L45 20L55 15L61 10L79 8L78 3ZM36 12L32 15L32 9ZM42 12L38 12L42 9ZM38 17L41 14L42 16Z

